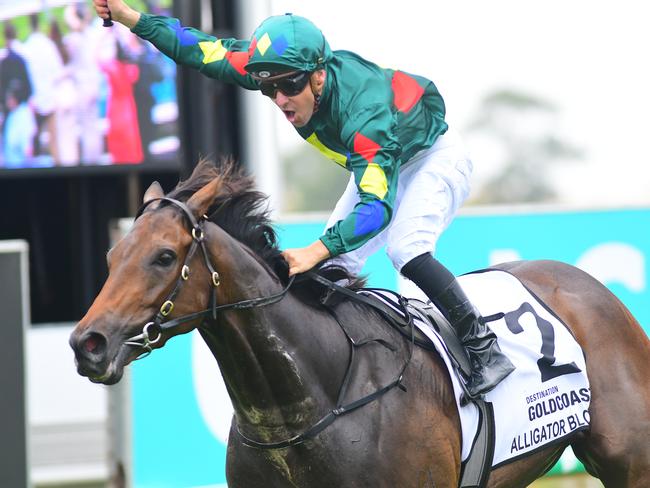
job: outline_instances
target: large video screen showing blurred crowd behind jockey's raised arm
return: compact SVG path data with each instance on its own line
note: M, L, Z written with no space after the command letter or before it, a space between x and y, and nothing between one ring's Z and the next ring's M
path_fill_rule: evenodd
M176 66L148 42L87 0L0 0L0 22L0 169L178 160Z

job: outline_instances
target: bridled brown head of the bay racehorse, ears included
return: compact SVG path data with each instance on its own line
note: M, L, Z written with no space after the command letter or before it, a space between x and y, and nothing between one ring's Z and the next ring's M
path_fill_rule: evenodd
M117 383L130 362L196 327L200 319L165 330L160 323L206 308L207 284L219 284L202 264L208 257L198 223L221 183L214 175L185 203L165 198L156 182L145 192L133 227L107 254L104 286L70 336L79 374Z

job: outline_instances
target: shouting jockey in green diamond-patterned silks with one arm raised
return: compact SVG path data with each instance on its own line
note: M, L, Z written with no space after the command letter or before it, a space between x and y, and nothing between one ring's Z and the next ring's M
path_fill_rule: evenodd
M291 275L325 259L358 273L386 245L395 268L456 330L472 366L469 396L481 397L512 372L495 334L432 255L469 193L472 163L431 81L332 51L321 31L297 15L266 19L250 40L217 39L122 0L94 4L100 17L110 7L113 20L177 63L260 90L303 139L352 173L324 234L283 252Z

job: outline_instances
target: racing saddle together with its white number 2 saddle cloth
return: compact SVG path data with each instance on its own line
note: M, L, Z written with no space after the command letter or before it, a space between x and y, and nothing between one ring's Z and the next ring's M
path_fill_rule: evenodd
M589 429L589 378L584 352L571 331L516 276L489 269L459 280L516 367L484 399L470 403L462 345L430 304L390 290L355 292L335 284L326 285L331 296L325 300L364 303L386 319L387 327L405 334L411 348L417 344L430 350L415 329L423 331L445 362L454 388L463 435L460 486L483 487L491 469Z

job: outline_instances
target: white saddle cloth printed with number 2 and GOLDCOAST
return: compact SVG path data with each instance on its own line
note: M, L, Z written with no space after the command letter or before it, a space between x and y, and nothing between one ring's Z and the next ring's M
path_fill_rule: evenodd
M493 468L587 429L591 392L585 358L567 326L509 273L483 271L461 276L458 281L483 317L491 319L489 327L516 367L486 395L495 417ZM451 367L441 337L420 320L416 325L450 371L465 461L477 434L478 408L461 406L461 380Z

